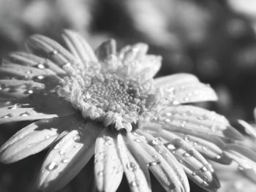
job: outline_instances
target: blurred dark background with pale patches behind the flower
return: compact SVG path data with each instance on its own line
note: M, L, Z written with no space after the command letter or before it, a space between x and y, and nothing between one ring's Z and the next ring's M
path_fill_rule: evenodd
M0 0L0 58L24 50L31 34L60 40L63 28L80 32L94 48L110 37L117 39L118 47L146 42L150 53L163 58L157 76L196 74L219 96L217 103L200 105L231 122L238 118L254 122L255 0ZM21 123L3 126L0 145L21 127ZM45 154L10 166L0 164L0 191L36 191L34 183ZM93 175L86 172L92 173L92 163L61 191L90 188ZM164 191L154 179L152 185L153 191ZM232 191L241 191L239 186ZM123 182L119 191L127 188ZM192 191L203 190L192 184Z

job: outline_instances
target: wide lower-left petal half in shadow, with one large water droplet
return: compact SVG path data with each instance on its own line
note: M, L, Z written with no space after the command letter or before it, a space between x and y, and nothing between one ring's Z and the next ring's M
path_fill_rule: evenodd
M101 128L96 123L81 123L79 130L72 130L64 136L42 164L39 188L57 191L69 183L94 154L94 142Z

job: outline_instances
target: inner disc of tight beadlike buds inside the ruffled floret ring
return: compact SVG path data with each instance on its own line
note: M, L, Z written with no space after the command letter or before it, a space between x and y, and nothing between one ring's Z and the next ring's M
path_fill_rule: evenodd
M138 82L121 80L116 75L105 74L95 77L89 88L84 90L87 102L101 108L104 112L113 111L143 112L146 96L139 87Z

